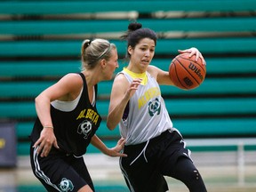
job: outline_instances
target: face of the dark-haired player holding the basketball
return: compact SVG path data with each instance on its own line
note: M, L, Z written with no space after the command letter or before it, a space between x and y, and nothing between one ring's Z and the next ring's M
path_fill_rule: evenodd
M138 68L138 71L145 72L155 54L155 42L150 38L143 38L135 48L128 48L131 54L131 64Z

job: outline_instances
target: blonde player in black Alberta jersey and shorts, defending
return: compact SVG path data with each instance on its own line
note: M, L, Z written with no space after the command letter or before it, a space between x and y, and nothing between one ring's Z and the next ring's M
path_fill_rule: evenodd
M31 133L30 159L47 191L94 191L83 155L92 143L108 156L119 153L124 139L107 148L95 135L101 117L97 84L118 68L116 45L104 39L84 40L82 71L69 73L36 97L37 119Z

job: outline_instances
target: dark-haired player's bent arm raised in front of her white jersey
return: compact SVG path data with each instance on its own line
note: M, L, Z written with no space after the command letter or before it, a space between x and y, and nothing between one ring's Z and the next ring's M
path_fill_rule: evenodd
M114 130L116 125L121 121L124 114L124 108L128 101L138 89L141 79L134 79L129 84L124 75L116 76L110 95L110 104L108 109L107 126L109 130Z

